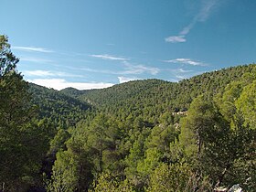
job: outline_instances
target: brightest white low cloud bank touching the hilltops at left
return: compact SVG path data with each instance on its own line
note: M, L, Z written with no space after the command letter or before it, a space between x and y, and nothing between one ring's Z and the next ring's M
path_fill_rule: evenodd
M27 81L55 90L63 90L68 87L76 88L78 90L91 90L108 88L114 85L108 82L70 82L63 79L35 79Z

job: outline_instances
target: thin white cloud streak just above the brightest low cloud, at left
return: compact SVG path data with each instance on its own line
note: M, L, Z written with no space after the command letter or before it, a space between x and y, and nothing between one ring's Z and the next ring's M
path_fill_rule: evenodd
M25 70L23 71L25 76L36 76L36 77L73 77L82 78L82 75L70 74L66 72L59 71L48 71L48 70Z

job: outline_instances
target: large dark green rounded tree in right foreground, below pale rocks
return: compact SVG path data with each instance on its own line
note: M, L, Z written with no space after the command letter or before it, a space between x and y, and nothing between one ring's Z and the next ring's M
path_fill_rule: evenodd
M204 96L191 103L183 121L180 142L196 165L198 176L210 176L221 183L233 161L229 123Z

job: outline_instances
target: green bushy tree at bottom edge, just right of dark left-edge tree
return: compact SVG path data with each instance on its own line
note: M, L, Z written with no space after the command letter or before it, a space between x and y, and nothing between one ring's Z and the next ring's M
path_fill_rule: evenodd
M83 138L71 137L67 151L59 151L48 181L48 191L87 191L91 185L91 158Z

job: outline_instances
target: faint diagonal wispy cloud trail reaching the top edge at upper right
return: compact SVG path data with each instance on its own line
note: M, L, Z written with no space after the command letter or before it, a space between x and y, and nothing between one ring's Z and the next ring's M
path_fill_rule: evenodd
M187 41L186 35L190 32L190 30L193 27L195 27L195 25L198 22L207 21L208 16L210 16L212 10L215 7L217 7L218 3L219 3L219 0L202 1L201 9L197 13L197 15L194 16L193 20L179 32L178 36L165 37L165 41L170 43L186 42Z

